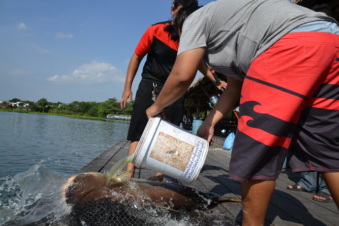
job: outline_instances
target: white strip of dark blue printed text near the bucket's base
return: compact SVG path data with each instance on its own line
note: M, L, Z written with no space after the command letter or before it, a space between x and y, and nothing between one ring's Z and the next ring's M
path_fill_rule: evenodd
M186 178L187 180L192 180L193 177L196 175L198 166L200 165L200 161L202 160L202 154L205 150L205 143L201 140L196 140L195 149L192 153L190 161L181 175L182 178ZM199 172L198 172L199 173Z

